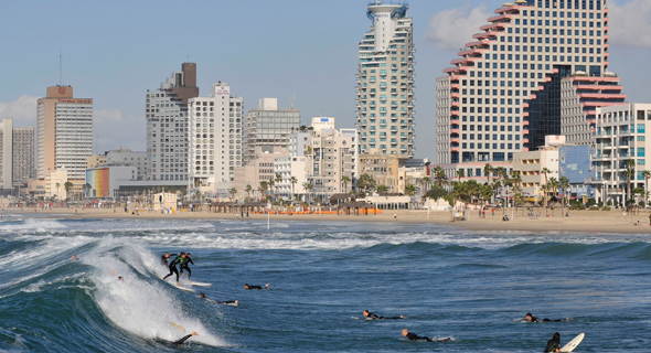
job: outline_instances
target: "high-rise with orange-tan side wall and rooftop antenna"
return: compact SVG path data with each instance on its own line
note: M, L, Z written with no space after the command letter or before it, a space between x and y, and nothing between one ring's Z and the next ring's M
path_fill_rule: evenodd
M53 86L36 106L36 178L65 169L73 192L81 191L93 154L93 99L74 98L72 86Z

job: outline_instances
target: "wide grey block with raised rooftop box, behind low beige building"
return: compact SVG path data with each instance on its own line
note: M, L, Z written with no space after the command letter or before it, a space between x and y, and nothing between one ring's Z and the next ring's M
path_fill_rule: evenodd
M262 98L258 108L248 110L244 117L243 154L244 163L256 156L256 149L285 148L289 146L289 135L300 127L300 111L278 109L276 98Z

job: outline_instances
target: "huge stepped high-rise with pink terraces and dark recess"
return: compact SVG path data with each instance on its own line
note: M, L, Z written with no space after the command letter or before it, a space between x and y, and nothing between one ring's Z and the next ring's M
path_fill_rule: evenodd
M595 107L623 101L617 79L604 78L613 76L607 0L517 0L495 13L437 79L437 162L450 179L483 178L485 163L511 169L513 153L561 135L564 119L580 133L569 141L587 142ZM564 99L564 85L576 99Z

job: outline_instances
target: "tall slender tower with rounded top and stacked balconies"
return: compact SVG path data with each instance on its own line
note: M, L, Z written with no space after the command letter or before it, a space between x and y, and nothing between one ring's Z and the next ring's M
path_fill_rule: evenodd
M414 40L406 4L369 6L373 25L359 45L356 127L362 153L414 157Z

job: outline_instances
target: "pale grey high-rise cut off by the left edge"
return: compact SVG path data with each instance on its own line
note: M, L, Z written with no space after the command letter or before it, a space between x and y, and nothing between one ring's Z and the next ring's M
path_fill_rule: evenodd
M0 186L12 189L34 176L34 128L14 128L13 119L0 122Z

